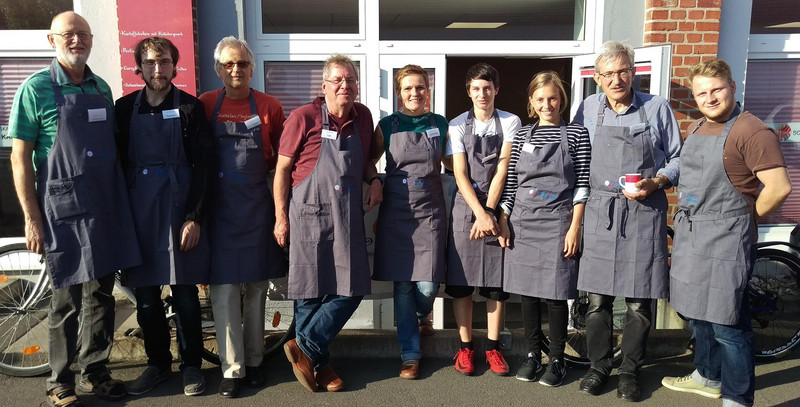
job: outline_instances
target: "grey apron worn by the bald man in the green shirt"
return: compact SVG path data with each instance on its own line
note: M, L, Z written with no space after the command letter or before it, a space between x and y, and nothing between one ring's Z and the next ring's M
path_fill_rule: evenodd
M36 175L47 265L53 287L63 288L138 265L141 255L117 161L113 110L97 85L97 94L62 94L57 63L50 65L50 80L58 130ZM104 120L90 121L101 111Z

